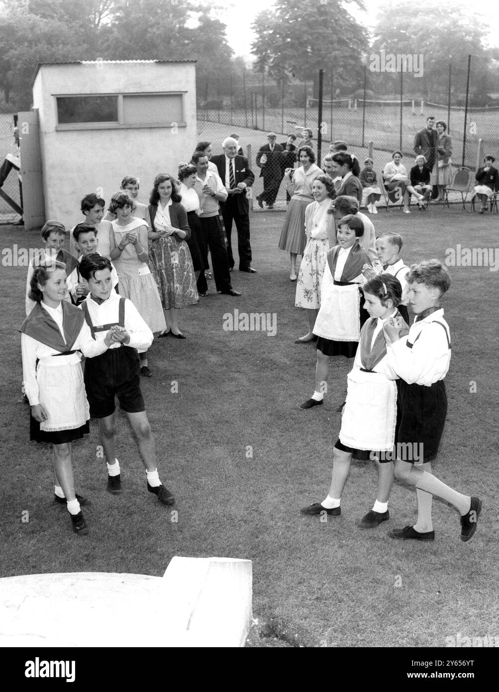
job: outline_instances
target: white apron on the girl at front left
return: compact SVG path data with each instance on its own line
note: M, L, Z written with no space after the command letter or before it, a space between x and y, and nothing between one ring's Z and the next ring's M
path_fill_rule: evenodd
M37 365L39 401L48 413L40 430L73 430L81 428L90 418L83 381L81 356L50 356Z

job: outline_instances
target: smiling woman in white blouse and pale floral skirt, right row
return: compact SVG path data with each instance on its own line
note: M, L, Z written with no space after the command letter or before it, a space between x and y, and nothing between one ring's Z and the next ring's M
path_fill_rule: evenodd
M332 224L328 223L328 210L335 195L335 183L327 175L317 176L312 183L311 202L305 209L305 233L307 245L301 260L298 281L296 282L296 307L303 307L307 313L308 334L296 339L294 343L317 341L314 325L321 307L321 281L326 266L326 253L336 245Z

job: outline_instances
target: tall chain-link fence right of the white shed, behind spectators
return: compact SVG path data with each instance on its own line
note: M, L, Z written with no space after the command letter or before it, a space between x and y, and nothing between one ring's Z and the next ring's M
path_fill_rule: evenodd
M290 133L298 143L301 129L310 127L316 150L320 130L321 161L332 141L343 140L362 164L372 142L379 176L394 149L404 153L407 169L413 165L415 134L434 116L451 136L453 170L476 170L484 154L499 158L499 67L493 61L464 57L435 65L428 59L425 66L424 55L382 51L370 56L364 80L348 94L339 93L334 72L325 69L320 122L319 75L313 77L279 83L247 69L223 79L198 76L199 137L211 141L215 153L229 134L240 135L245 154L251 145L254 194L263 189L256 153L271 130L278 143ZM278 200L285 200L282 184Z

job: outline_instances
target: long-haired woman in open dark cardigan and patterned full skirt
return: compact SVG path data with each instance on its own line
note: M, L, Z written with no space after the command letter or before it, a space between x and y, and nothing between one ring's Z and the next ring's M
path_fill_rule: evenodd
M167 322L167 329L160 338L171 334L185 339L178 328L178 310L186 305L195 305L199 300L191 253L185 242L191 229L180 199L173 177L167 173L157 175L149 196L153 230L149 231L148 237L153 241L149 266L158 284Z

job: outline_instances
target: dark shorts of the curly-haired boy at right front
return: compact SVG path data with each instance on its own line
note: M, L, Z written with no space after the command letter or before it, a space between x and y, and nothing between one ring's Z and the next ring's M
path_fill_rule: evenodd
M397 380L397 401L401 412L397 441L422 445L423 463L433 461L437 456L447 415L444 381L439 380L431 387L425 387Z

